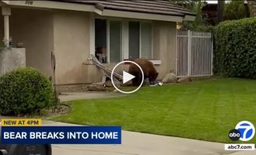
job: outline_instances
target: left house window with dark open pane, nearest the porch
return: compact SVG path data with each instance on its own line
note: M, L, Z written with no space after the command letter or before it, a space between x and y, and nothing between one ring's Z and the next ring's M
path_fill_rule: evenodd
M95 19L95 56L105 63L121 61L122 22Z

